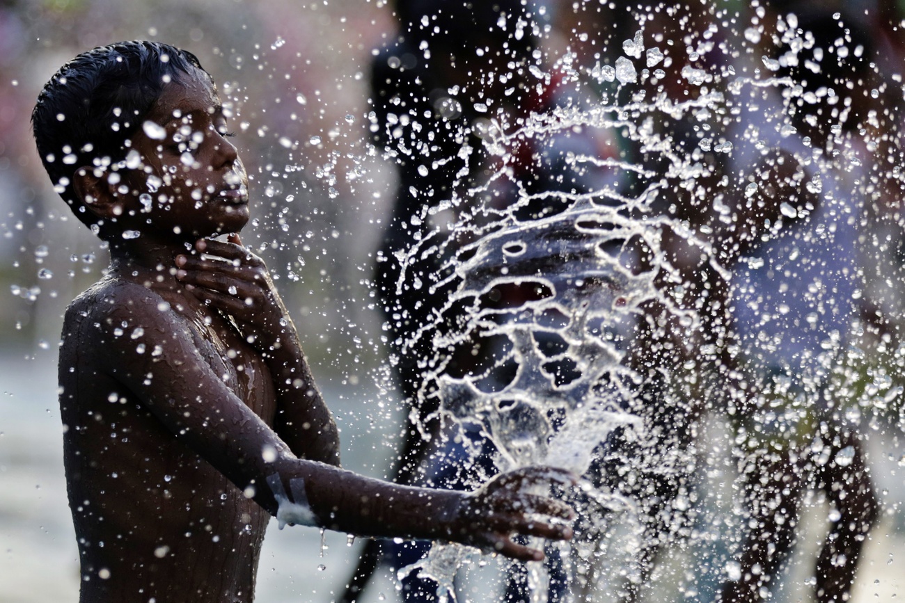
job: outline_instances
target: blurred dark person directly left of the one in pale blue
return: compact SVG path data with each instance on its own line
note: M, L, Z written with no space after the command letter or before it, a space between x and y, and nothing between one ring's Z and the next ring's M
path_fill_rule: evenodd
M693 525L700 418L719 405L715 399L730 365L725 316L729 284L713 263L730 260L714 255L731 245L732 234L718 228L713 203L725 175L725 155L714 149L721 127L719 116L705 110L710 108L705 93L719 86L710 84L711 74L729 57L721 50L719 32L710 29L711 5L628 4L615 3L614 14L607 15L616 19L611 28L617 35L604 26L595 29L609 41L608 47L601 44L600 57L617 68L634 59L633 77L622 76L618 87L614 84L606 93L632 107L637 122L626 159L642 171L633 173L638 175L623 193L653 199L637 218L653 218L656 225L646 229L646 240L635 241L632 261L639 272L653 273L659 294L644 303L626 343L625 363L638 375L627 410L643 421L643 429L617 431L599 448L594 471L598 487L637 505L640 544L630 578L617 595L634 601L649 585L662 549L687 537ZM706 43L718 50L692 56L693 47ZM692 68L709 78L705 87L685 77L685 70ZM681 116L664 110L676 103L690 107ZM643 123L648 124L645 131ZM584 533L581 523L582 518L573 546L596 539L602 549L609 535L593 528ZM599 588L606 565L603 557L588 576L580 577L586 597Z

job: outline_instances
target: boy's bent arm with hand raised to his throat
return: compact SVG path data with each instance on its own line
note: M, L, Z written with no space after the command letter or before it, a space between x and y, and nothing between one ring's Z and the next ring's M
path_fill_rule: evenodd
M336 424L263 260L243 247L237 234L229 242L199 240L195 250L196 255L176 258L177 278L206 304L233 316L264 358L277 392L277 434L298 457L339 466Z

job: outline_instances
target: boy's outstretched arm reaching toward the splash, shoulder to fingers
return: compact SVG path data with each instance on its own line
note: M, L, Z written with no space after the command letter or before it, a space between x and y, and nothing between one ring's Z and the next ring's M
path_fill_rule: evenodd
M527 492L538 482L571 480L565 471L523 469L462 493L389 484L297 457L210 368L188 320L166 308L146 287L120 286L94 306L85 343L102 354L99 368L132 391L174 438L281 522L450 540L526 561L543 554L511 536L571 537L567 525L551 521L571 518L571 509ZM136 327L140 334L124 335L139 333Z

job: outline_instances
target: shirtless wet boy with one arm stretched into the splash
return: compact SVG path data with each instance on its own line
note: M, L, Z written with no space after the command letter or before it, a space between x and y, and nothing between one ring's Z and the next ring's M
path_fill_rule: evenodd
M465 494L339 467L295 327L234 234L249 207L228 113L195 56L157 42L79 55L33 111L56 190L110 246L60 352L81 601L251 600L269 515L525 561L543 553L513 533L570 538L538 517L569 519L566 504L522 492L565 472L524 469Z

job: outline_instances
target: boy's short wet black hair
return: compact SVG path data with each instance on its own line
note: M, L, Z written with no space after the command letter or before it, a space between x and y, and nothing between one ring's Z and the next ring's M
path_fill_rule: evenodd
M125 159L129 138L161 91L193 68L207 73L194 54L169 44L116 42L82 52L47 82L32 112L34 141L54 189L79 220L96 221L72 188L75 171Z

